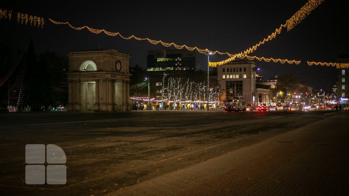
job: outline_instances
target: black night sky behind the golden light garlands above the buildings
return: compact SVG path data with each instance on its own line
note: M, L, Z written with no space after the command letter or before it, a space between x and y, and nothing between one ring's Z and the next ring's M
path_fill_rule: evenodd
M94 34L88 30L73 30L54 25L52 18L70 22L75 27L87 25L95 29L136 35L178 45L198 46L222 52L237 53L257 44L284 24L306 0L246 0L210 3L190 1L54 1L1 3L0 9L13 10L13 18L0 20L0 42L14 50L23 49L32 38L35 52L52 51L66 55L71 51L115 49L131 56L130 66L146 68L148 50L160 45L147 41L124 40ZM259 74L265 79L292 72L314 90L330 90L337 81L335 67L309 66L306 61L336 62L340 54L349 54L348 18L344 1L325 0L293 30L281 34L259 47L250 56L302 60L301 64L281 64L255 60ZM43 28L16 22L21 12L45 18ZM172 48L174 49L174 48ZM226 59L214 55L212 61ZM246 60L246 59L245 59ZM206 55L198 53L197 63L207 69Z

